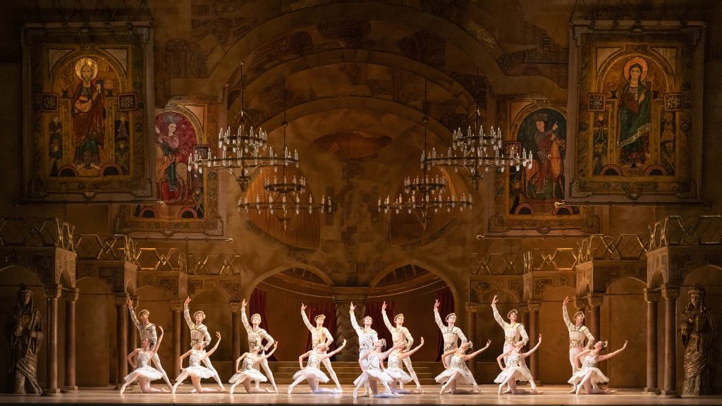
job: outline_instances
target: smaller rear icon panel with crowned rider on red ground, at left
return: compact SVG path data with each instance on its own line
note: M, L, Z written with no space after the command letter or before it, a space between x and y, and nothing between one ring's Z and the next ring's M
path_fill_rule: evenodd
M217 142L218 104L205 98L177 98L155 114L155 204L124 206L116 217L118 233L134 231L221 235L217 213L218 174L188 170L188 159L196 150L208 150ZM212 138L212 139L209 139Z

